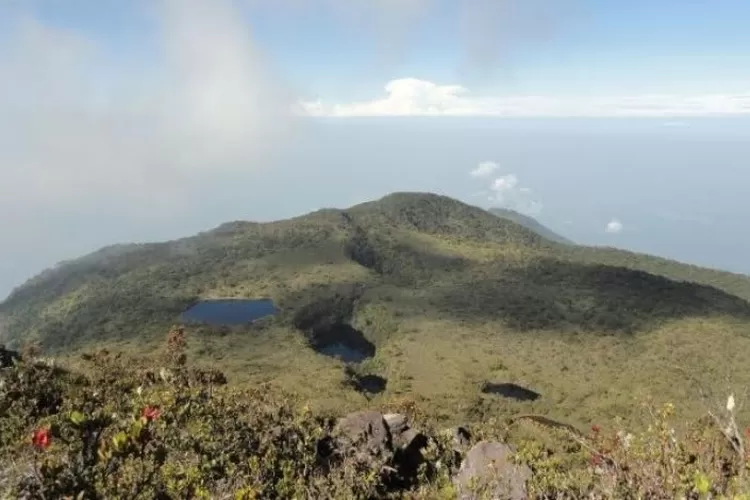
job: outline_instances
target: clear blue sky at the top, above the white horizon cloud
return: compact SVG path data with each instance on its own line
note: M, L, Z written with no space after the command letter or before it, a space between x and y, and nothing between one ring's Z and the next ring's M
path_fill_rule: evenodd
M747 92L750 81L744 0L235 3L239 22L291 84L328 99L371 98L399 77L465 84L464 77L485 91L546 95ZM118 62L153 70L157 5L34 0L3 4L0 13L32 13L90 37ZM474 12L497 20L480 23ZM496 57L471 68L473 46Z

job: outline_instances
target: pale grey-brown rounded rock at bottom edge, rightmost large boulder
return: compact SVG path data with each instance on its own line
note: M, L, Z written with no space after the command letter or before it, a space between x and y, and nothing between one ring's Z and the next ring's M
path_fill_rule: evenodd
M525 500L531 469L511 461L513 450L504 443L481 441L466 454L453 479L461 500L478 498Z

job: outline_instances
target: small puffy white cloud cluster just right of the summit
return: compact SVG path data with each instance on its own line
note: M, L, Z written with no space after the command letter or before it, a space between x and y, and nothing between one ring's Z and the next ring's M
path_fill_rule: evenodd
M469 175L474 178L487 179L498 168L497 163L486 161L469 172ZM487 190L480 192L479 195L485 197L490 206L509 208L527 215L536 215L543 208L542 203L535 199L531 189L521 186L518 176L513 173L492 178Z

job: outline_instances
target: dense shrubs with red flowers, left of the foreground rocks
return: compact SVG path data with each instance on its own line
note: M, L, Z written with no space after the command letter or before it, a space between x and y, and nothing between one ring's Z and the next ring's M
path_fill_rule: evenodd
M0 470L8 471L10 484L0 493L76 499L387 493L378 470L346 457L321 459L331 419L266 387L232 390L220 373L189 367L185 347L184 331L175 329L155 369L128 369L126 360L100 351L84 356L86 376L28 359L4 370Z

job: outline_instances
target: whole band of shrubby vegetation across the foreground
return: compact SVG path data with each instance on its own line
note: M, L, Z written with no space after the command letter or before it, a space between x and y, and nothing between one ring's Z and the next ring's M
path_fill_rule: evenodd
M472 425L458 444L409 399L340 420L268 386L228 387L221 372L188 362L189 342L173 329L153 355L100 350L75 370L30 346L0 367L0 497L497 498L484 495L502 472L484 483L461 473L482 443L510 443L505 470L528 471L524 498L748 498L750 435L733 399L683 431L665 405L641 433L517 416ZM342 424L358 420L380 420L384 434ZM402 440L400 421L419 432Z

